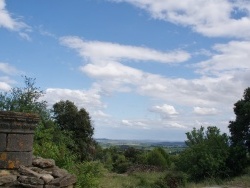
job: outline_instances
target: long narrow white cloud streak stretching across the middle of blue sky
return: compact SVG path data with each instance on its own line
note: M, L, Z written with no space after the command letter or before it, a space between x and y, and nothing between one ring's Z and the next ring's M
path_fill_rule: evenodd
M105 60L155 61L161 63L180 63L188 60L190 54L182 50L160 52L150 48L125 46L117 43L85 41L79 37L62 37L60 42L76 49L83 58L91 59L91 63L103 64Z

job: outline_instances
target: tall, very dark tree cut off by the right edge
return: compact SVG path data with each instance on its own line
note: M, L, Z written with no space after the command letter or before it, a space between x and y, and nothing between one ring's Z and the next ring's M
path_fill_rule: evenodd
M234 104L236 119L229 122L231 152L229 167L234 175L247 166L250 153L250 88L245 89L243 99Z

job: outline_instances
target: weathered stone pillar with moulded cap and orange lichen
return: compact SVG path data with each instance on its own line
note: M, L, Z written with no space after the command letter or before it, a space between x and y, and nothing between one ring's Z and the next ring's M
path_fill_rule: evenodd
M35 114L0 111L0 169L31 166Z

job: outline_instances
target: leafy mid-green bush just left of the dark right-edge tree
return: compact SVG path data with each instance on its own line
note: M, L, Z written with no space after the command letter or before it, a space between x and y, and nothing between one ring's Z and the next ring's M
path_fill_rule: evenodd
M205 178L228 176L227 159L229 157L228 137L220 134L217 127L208 127L187 133L188 148L181 153L177 166L194 181Z

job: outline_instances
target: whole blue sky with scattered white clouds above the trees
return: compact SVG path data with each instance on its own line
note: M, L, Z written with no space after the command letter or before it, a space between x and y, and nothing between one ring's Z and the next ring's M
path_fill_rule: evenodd
M0 92L36 79L95 138L228 133L250 86L249 0L0 0Z

